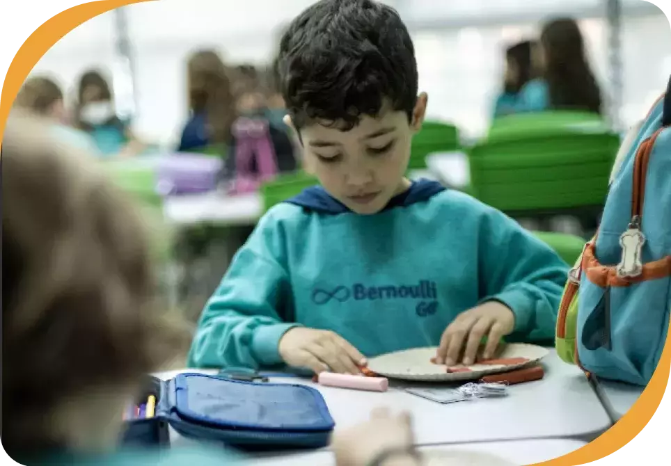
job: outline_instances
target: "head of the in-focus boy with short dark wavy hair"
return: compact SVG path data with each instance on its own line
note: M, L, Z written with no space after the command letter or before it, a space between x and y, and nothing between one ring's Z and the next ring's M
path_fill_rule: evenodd
M306 169L359 214L404 191L427 97L398 13L373 0L321 0L281 40L283 96Z

